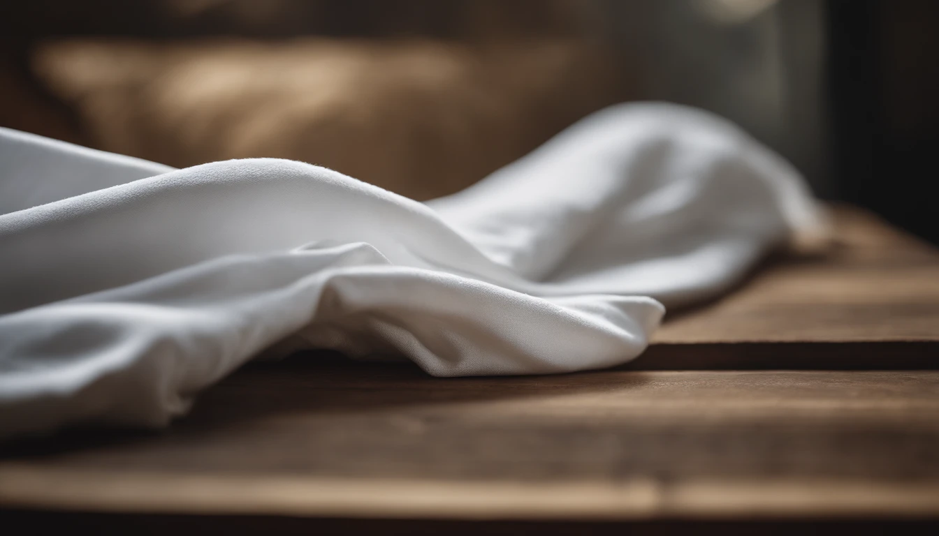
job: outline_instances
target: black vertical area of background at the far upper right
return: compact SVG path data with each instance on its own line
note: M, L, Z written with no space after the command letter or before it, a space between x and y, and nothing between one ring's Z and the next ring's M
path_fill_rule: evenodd
M939 3L827 7L833 193L939 242Z

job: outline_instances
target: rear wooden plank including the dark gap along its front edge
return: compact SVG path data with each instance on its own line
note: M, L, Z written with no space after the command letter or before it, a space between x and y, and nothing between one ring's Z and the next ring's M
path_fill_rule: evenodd
M724 299L670 312L627 368L935 368L939 251L863 210L832 215L825 253L770 259Z

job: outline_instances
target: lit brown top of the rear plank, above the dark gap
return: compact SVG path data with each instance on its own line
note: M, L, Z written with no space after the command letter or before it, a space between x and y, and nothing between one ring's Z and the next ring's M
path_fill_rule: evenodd
M939 341L939 251L870 213L832 213L826 253L773 259L726 298L672 315L655 341Z

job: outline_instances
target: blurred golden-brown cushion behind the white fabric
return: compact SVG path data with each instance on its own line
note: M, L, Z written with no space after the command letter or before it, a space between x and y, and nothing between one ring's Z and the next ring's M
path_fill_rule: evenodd
M308 161L416 199L461 190L612 100L580 41L80 40L40 80L91 145L184 167Z

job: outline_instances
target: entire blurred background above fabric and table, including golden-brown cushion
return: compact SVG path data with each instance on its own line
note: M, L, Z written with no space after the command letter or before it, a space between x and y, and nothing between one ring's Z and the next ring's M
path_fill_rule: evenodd
M31 0L0 6L0 126L174 166L325 165L417 199L583 115L670 100L825 199L939 242L934 0Z

